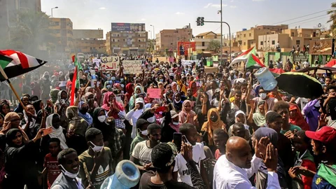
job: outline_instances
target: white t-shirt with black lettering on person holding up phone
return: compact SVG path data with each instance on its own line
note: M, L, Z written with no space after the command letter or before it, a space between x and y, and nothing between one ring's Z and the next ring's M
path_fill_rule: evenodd
M203 147L204 146L201 143L196 143L196 145L193 146L193 160L197 166L198 172L200 172L201 160L206 158ZM187 162L181 153L175 157L174 172L179 172L179 182L187 183L189 186L193 186L190 177L190 170L188 169Z

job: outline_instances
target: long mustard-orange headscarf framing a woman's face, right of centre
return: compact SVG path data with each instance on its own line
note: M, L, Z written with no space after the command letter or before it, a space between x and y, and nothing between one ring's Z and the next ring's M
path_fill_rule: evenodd
M213 122L210 119L211 113L213 113L213 112L216 113L216 115L218 117L215 122ZM210 146L214 145L214 141L212 139L214 130L222 128L223 125L224 125L224 123L221 120L221 116L219 116L218 109L209 109L209 111L208 111L208 121L203 124L201 130L208 132L208 141L209 141Z

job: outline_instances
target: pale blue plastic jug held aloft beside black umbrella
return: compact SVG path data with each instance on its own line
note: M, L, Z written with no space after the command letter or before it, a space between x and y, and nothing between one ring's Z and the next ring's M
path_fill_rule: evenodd
M267 67L263 67L255 72L255 77L258 78L260 85L264 88L264 90L273 90L278 84L273 74Z

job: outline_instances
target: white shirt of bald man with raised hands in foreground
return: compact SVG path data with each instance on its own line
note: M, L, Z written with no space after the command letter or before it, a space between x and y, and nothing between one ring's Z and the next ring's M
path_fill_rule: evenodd
M216 162L214 168L214 189L255 188L248 180L258 172L261 165L261 159L253 155L250 169L242 169L232 162L229 162L225 155L222 155ZM279 188L278 175L275 172L267 173L267 188Z

